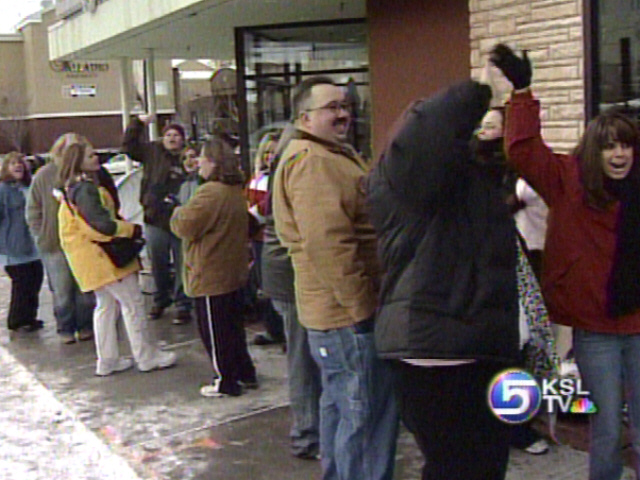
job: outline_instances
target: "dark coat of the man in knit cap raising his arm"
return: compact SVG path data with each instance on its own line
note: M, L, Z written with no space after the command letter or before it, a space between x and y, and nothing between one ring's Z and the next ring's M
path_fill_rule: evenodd
M171 231L173 204L165 199L167 195L178 194L187 174L179 153L168 151L162 141L145 142L143 134L144 124L139 119L133 120L125 131L122 151L143 166L140 204L144 223Z

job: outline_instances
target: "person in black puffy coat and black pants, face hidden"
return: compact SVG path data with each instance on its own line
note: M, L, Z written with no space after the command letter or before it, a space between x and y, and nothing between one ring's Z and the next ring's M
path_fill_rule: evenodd
M504 162L470 146L491 97L465 81L415 102L369 176L386 271L376 347L394 363L425 480L502 479L508 463L487 387L518 358L516 230Z

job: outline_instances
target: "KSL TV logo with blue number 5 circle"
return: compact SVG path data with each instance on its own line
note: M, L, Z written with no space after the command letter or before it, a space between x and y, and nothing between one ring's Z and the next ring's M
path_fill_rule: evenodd
M526 370L497 374L487 392L489 407L506 423L525 423L543 407L547 413L596 413L598 408L582 388L580 378L543 379L538 385Z

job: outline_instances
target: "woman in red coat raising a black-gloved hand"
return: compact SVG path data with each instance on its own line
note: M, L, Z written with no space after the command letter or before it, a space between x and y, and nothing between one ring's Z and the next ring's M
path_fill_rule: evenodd
M491 61L515 89L505 125L509 161L549 206L543 295L551 320L574 328L580 374L598 409L589 478L618 480L624 400L640 456L640 134L624 115L605 112L571 155L553 153L540 136L526 54L498 45Z

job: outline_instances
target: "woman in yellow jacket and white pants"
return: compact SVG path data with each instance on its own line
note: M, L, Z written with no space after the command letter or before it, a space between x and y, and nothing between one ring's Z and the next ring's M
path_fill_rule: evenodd
M140 237L140 225L116 219L114 199L98 186L98 157L83 137L62 155L59 185L62 189L58 228L62 250L80 290L94 291L93 314L98 363L96 375L106 376L133 366L118 351L116 323L122 310L131 351L138 369L147 372L173 365L176 356L151 341L138 284L139 261L116 267L97 242L115 237ZM120 307L118 307L118 305Z

